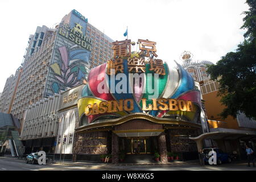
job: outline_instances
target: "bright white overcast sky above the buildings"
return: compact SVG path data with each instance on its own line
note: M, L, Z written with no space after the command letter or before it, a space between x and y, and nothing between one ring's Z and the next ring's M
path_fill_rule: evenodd
M167 63L179 61L183 51L216 63L242 42L241 13L248 6L245 0L1 0L0 92L22 63L28 36L37 26L53 27L73 9L113 40L125 40L128 26L131 41L156 42L158 58Z

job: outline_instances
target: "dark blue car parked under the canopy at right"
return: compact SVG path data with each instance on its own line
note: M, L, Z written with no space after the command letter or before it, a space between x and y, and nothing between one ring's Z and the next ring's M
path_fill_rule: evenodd
M210 158L210 156L208 155L210 151L215 151L216 155L217 155L217 164L222 164L222 163L231 163L232 159L231 156L229 154L226 154L225 152L223 152L222 150L220 150L219 148L204 148L203 149L203 153L204 153L204 163L208 163L208 160Z

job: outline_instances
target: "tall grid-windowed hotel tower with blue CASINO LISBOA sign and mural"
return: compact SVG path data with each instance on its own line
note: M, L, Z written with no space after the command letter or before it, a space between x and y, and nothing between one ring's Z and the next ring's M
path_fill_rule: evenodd
M76 10L54 29L37 27L28 40L20 79L15 75L6 81L2 111L22 120L29 105L86 82L89 69L113 55L112 42Z

